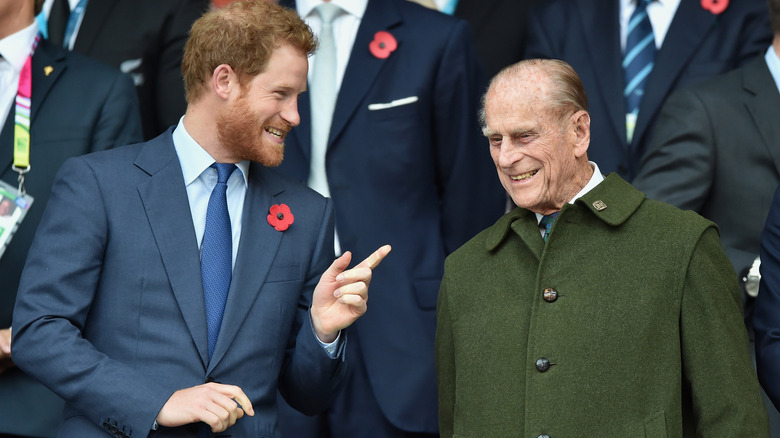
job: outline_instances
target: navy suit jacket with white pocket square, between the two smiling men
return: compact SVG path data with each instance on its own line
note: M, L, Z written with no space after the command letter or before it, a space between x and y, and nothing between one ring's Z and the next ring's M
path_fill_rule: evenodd
M378 31L398 48L369 51ZM436 298L444 258L504 211L477 120L484 79L465 22L406 0L370 0L331 124L326 169L341 247L357 260L382 244L393 256L371 282L369 310L350 331L372 392L401 430L436 432ZM371 110L369 105L417 97ZM284 173L309 176L311 112L285 141ZM379 272L379 271L378 271ZM354 356L352 356L354 358Z

